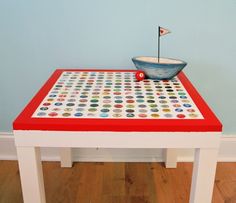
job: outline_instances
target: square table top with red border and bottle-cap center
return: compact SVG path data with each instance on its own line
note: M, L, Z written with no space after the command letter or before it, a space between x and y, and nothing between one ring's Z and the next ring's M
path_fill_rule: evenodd
M58 69L13 123L14 130L221 131L185 74L137 81L134 70Z

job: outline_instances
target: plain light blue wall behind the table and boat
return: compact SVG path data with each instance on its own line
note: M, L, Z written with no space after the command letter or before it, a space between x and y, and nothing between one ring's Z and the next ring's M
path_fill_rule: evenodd
M56 67L134 68L131 57L156 54L156 27L169 28L162 56L185 72L236 133L235 0L1 0L0 131Z

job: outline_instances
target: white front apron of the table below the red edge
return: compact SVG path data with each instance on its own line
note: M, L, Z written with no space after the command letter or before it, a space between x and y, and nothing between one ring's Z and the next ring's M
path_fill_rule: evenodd
M218 148L221 132L14 130L15 145L76 148Z

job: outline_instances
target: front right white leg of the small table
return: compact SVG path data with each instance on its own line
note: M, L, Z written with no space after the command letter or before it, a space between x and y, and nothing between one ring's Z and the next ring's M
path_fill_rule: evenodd
M190 203L210 203L215 180L218 149L196 149Z

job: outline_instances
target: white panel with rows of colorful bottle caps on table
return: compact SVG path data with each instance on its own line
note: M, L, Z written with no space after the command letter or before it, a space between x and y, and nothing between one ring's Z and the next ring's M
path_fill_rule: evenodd
M137 81L135 72L64 71L32 117L203 119L178 77Z

